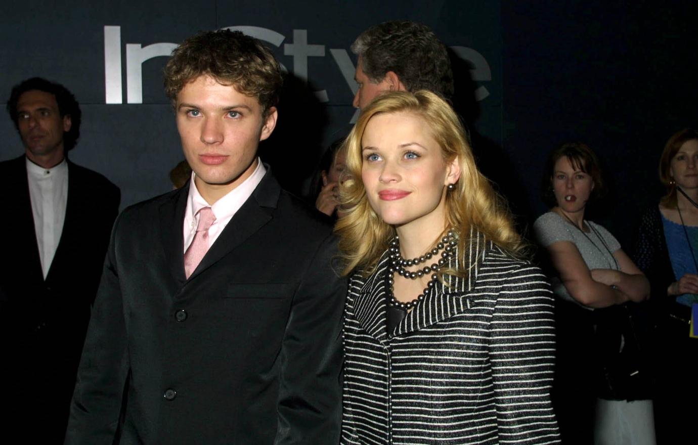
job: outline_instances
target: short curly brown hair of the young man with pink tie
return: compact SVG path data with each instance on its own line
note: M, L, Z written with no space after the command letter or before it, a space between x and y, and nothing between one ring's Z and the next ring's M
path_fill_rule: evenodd
M173 105L184 85L200 75L210 75L245 96L257 98L265 116L279 102L283 84L281 66L274 54L260 40L228 29L206 31L184 40L172 51L164 72L165 94Z

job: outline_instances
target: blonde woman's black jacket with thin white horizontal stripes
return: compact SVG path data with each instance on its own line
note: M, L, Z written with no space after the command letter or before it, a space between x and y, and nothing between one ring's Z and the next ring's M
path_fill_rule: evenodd
M369 278L350 280L341 444L560 442L549 285L473 236L468 276L431 289L392 333L387 254Z

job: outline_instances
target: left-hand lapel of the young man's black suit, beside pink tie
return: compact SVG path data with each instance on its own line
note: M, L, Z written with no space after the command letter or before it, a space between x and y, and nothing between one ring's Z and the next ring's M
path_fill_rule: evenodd
M189 186L184 186L170 195L160 206L160 234L165 251L165 261L170 266L170 273L176 282L184 285L184 211Z

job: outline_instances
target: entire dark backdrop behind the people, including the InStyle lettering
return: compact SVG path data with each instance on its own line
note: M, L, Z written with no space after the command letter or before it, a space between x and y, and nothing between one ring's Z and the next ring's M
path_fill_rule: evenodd
M452 47L456 107L482 169L521 221L545 210L547 152L581 140L599 153L611 186L596 218L626 244L637 213L661 191L656 165L665 140L697 117L696 8L682 3L3 2L0 100L35 75L65 84L83 110L70 158L105 174L121 187L122 206L132 204L168 191L168 172L183 158L162 89L166 56L149 56L198 31L247 27L290 72L263 156L288 188L304 193L320 153L355 115L350 44L371 24L415 20ZM22 153L8 116L0 135L0 160Z

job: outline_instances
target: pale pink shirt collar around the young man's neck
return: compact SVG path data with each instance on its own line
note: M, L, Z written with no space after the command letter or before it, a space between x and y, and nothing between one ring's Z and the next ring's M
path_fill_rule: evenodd
M188 196L188 208L191 209L191 216L196 219L196 213L203 209L204 207L211 207L214 212L216 221L226 220L232 217L237 210L242 207L242 204L247 200L248 197L252 195L252 192L257 188L258 184L262 181L262 178L267 173L267 169L262 164L262 160L257 158L257 167L252 174L242 181L242 183L236 188L230 190L225 196L210 205L206 202L198 188L196 188L196 183L194 178L196 174L191 172L191 181L189 181L189 196Z

